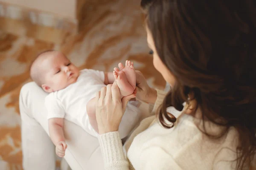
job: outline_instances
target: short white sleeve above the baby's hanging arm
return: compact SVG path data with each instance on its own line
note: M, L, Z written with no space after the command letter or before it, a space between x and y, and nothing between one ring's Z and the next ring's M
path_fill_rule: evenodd
M45 98L44 104L47 108L47 119L64 118L64 108L60 100L54 94L48 94Z

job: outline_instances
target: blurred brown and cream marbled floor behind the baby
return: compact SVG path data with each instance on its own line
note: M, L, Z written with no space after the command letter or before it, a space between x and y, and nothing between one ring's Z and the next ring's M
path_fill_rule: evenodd
M150 85L163 88L165 82L148 54L139 2L88 1L82 8L78 35L37 26L20 34L20 29L28 28L13 20L9 27L2 26L5 29L0 31L0 170L22 169L18 96L21 86L31 81L29 65L40 51L60 50L81 69L103 71L112 71L119 62L130 59ZM59 36L53 36L54 31Z

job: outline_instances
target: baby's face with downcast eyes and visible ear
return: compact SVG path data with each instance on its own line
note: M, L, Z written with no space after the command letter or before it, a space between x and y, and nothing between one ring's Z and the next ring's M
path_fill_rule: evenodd
M66 88L79 77L79 69L58 51L51 52L42 65L45 71L42 88L48 93Z

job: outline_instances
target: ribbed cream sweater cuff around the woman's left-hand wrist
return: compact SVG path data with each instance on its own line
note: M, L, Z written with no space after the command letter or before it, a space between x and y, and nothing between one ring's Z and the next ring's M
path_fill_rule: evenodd
M99 145L105 165L125 160L125 154L118 131L99 135Z

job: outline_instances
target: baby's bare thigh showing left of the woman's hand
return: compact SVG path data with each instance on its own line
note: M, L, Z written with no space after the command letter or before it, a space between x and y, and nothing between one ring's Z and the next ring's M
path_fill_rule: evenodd
M99 133L98 130L98 124L96 120L96 100L95 97L93 99L90 99L90 101L86 105L86 111L89 117L89 122L92 125L93 129L96 130L96 132Z

